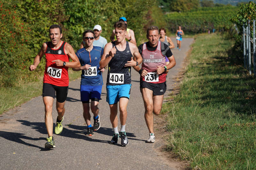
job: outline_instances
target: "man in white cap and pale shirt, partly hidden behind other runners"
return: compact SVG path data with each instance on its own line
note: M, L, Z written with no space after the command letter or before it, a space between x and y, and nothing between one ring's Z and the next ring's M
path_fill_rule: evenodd
M100 33L101 33L101 26L100 25L95 25L93 27L93 32L94 32L94 35L95 35L95 39L93 41L93 46L98 46L98 47L101 47L104 49L105 45L108 43L106 38L104 37L101 37L100 36ZM84 48L85 46L85 42L82 41L81 45L80 45L80 48Z

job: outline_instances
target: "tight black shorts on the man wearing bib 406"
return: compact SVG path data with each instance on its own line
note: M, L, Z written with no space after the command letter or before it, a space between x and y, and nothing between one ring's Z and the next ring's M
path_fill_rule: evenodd
M56 91L56 99L59 103L63 103L67 99L68 86L57 86L49 83L43 84L43 97L50 96L54 99Z

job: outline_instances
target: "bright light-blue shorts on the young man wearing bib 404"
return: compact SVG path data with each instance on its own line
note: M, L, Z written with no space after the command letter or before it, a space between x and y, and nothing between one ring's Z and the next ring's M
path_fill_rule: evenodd
M109 105L116 104L121 97L130 98L131 84L125 85L107 85L107 99Z

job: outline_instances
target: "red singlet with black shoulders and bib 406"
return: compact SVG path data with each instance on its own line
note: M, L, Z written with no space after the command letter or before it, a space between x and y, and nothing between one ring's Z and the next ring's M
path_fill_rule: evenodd
M47 48L44 51L45 54L45 71L44 71L44 83L49 83L57 86L68 86L68 67L58 67L53 60L60 59L61 61L69 62L69 56L65 53L66 42L62 42L59 49L50 48L51 41L46 42Z

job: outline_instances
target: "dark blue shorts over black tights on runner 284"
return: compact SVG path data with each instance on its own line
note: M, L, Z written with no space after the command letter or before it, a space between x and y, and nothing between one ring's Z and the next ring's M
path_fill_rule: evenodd
M80 85L80 96L83 103L88 103L89 100L99 101L102 85ZM98 100L97 100L98 99Z

